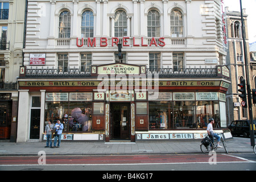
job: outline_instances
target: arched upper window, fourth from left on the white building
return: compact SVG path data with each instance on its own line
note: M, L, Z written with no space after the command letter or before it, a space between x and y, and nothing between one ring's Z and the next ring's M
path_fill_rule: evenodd
M147 14L147 36L160 37L160 15L156 10L150 10Z

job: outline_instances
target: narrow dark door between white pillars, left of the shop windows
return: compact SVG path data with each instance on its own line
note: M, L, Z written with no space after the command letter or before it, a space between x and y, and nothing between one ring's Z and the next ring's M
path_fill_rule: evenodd
M39 139L40 135L40 109L31 109L30 139Z

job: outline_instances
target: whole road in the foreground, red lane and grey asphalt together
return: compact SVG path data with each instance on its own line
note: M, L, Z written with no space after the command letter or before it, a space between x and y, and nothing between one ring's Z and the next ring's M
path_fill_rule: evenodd
M148 173L155 173L154 176L161 175L159 171L255 171L256 155L252 152L251 154L215 153L213 155L0 156L0 170L69 170L87 171L87 173L101 171L96 175L99 179L104 178L106 171L108 175L119 173L126 178L128 171L133 173L148 171Z

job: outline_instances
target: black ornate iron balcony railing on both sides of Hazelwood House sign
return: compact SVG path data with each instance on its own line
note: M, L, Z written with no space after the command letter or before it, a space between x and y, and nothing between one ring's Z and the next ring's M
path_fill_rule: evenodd
M217 77L217 68L146 68L146 75L158 74L159 77ZM31 67L26 68L25 77L90 77L90 68L71 67Z

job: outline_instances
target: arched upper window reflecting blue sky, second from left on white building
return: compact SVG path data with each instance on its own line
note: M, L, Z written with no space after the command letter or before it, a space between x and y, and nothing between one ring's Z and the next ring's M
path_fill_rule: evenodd
M93 38L94 17L92 11L86 10L82 13L81 37Z

